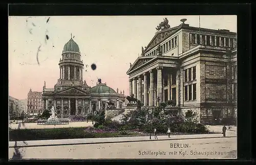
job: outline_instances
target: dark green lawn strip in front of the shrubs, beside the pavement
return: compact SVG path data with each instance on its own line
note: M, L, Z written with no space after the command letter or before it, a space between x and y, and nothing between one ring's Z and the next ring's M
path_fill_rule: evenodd
M91 133L84 128L20 129L9 131L10 141L139 136L140 133Z

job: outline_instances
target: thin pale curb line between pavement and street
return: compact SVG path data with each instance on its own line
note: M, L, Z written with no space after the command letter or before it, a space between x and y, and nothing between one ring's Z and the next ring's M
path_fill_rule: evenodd
M129 143L129 142L149 142L149 141L166 141L166 140L186 140L186 139L202 139L202 138L227 138L237 136L220 136L220 137L190 137L190 138L170 138L170 139L145 139L145 140L125 140L115 142L90 142L90 143L67 143L67 144L50 144L50 145L28 145L28 146L9 146L9 148L25 148L25 147L45 147L45 146L71 146L71 145L91 145L91 144L111 144L111 143ZM13 141L14 142L14 141Z

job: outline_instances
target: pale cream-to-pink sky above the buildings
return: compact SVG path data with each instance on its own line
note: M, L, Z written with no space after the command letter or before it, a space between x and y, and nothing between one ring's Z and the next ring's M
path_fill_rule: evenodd
M81 52L83 79L87 84L93 87L100 78L102 83L114 90L124 90L126 95L130 62L133 64L138 58L141 46L147 46L165 17L171 28L180 25L182 18L187 19L185 23L189 26L199 27L198 15L9 16L9 96L26 99L30 88L42 91L44 81L47 88L54 88L63 46L71 33ZM237 32L237 16L201 15L200 26ZM95 70L91 69L93 63L97 66Z

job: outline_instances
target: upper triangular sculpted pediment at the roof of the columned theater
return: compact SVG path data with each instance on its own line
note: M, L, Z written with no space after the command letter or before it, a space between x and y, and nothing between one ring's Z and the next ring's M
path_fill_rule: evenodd
M161 41L169 37L173 32L175 32L179 27L171 28L162 32L158 32L153 39L146 46L145 52L158 45Z

